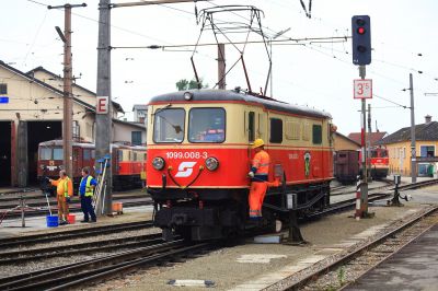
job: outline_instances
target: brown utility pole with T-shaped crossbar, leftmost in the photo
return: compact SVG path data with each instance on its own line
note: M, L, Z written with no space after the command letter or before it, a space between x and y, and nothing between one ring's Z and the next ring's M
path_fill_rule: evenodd
M59 37L64 42L64 119L62 119L62 149L64 149L64 167L69 177L73 176L73 150L72 150L72 115L73 115L73 104L72 104L72 66L71 66L71 9L77 7L87 7L85 3L82 4L64 4L51 7L48 5L47 9L64 9L65 10L65 24L64 34L61 30L56 26L56 31Z

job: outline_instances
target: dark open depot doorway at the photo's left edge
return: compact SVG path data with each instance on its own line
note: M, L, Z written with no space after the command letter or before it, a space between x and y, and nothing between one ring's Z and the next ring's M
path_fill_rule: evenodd
M13 123L0 121L0 186L11 185Z

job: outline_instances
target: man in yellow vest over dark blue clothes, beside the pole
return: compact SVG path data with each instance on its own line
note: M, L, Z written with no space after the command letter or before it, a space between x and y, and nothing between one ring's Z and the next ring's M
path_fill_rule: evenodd
M97 182L90 175L90 168L82 168L82 179L79 184L79 196L81 198L81 209L83 212L83 220L81 222L96 222L96 216L92 205L93 190L96 185Z

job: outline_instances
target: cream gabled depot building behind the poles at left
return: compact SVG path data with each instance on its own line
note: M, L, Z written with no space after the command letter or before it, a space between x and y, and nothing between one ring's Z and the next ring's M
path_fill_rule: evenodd
M64 81L42 67L22 72L0 60L0 186L36 184L38 143L62 139ZM73 141L94 142L96 94L72 85ZM119 120L112 103L113 141L145 144L143 124Z

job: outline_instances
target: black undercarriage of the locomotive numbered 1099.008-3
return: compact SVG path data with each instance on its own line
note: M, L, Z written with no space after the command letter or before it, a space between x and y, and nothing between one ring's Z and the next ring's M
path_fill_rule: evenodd
M276 220L289 224L290 211L287 208L287 194L297 194L293 210L299 217L320 211L330 203L328 182L313 185L278 187L266 194L263 218L249 219L247 190L204 189L191 191L165 189L153 193L154 225L163 230L164 240L174 234L187 240L204 241L227 238L243 234L247 226L275 229Z

